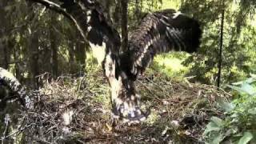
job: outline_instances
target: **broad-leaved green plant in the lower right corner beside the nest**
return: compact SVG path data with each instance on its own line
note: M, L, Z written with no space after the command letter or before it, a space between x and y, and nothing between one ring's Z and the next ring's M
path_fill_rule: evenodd
M256 76L229 85L238 94L230 103L220 102L225 118L212 117L204 131L209 143L256 142Z

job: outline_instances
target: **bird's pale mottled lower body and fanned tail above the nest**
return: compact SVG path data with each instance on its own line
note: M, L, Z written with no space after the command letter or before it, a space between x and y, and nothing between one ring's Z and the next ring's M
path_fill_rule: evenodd
M141 110L140 96L135 93L134 81L128 79L115 60L111 53L107 53L103 64L111 88L113 116L128 122L141 122L150 112Z

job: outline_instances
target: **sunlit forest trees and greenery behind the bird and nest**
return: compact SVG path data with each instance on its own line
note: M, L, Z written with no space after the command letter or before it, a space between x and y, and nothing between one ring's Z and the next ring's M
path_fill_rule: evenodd
M255 73L256 2L150 0L102 1L122 43L141 21L155 10L171 8L198 19L203 35L197 54L162 54L151 68L174 78L217 85L222 10L225 10L222 50L222 84L236 82ZM54 77L78 74L90 66L88 42L66 18L31 2L2 0L0 5L0 66L14 72L21 82L37 87L35 76L49 72ZM127 18L127 19L126 19Z

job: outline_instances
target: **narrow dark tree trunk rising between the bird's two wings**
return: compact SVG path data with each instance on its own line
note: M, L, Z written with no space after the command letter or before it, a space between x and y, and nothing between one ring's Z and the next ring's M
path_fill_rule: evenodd
M128 0L121 1L122 6L122 50L128 46Z

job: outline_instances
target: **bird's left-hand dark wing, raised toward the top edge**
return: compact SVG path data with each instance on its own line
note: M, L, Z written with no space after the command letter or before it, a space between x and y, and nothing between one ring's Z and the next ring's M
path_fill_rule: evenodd
M71 14L82 27L86 39L95 46L106 46L106 51L118 54L120 37L110 17L97 1L59 0L62 8ZM105 45L103 44L105 43Z

